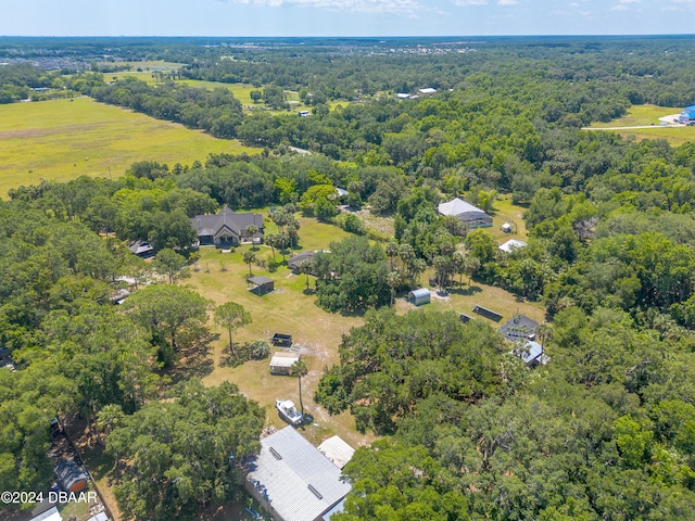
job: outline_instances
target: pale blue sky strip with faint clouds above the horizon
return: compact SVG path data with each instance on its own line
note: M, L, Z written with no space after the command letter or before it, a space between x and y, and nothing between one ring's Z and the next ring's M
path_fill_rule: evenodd
M693 34L695 0L3 0L4 36Z

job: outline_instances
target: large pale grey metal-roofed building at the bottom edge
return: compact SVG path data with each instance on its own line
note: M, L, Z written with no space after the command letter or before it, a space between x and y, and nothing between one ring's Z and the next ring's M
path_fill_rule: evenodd
M340 469L292 427L261 440L250 469L247 490L276 520L328 521L351 488Z

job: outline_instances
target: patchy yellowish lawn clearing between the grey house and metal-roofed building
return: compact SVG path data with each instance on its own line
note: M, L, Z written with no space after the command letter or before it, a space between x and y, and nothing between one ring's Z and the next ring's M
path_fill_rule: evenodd
M346 237L343 230L316 219L300 218L301 246L304 250L327 249L331 241ZM266 233L273 233L276 227L266 221ZM241 345L255 340L269 342L273 333L288 333L293 336L293 348L300 350L309 373L302 379L302 396L305 411L314 416L314 422L304 428L304 435L315 444L326 437L339 434L354 447L370 443L374 435L362 435L355 430L354 420L349 414L329 416L314 403L313 396L324 369L339 361L338 346L342 335L351 328L363 323L362 317L345 317L340 314L324 312L315 304L316 296L305 292L304 275L293 275L282 266L277 271L252 265L252 272L265 275L275 281L275 291L257 296L249 291L247 283L249 266L242 260L244 252L251 245L243 245L232 253L220 253L214 247L200 250L199 271L193 271L190 279L182 283L190 284L214 305L233 301L244 306L251 314L252 322L239 329L235 335L235 344ZM300 250L296 251L299 253ZM255 251L258 259L271 257L270 247L262 245ZM282 256L276 252L277 260ZM309 277L309 288L314 280ZM270 358L258 361L247 361L239 367L229 367L226 359L229 355L229 336L226 330L215 329L220 333L218 341L211 350L213 360L212 372L203 379L207 385L217 385L223 381L237 384L250 398L265 408L269 423L278 428L285 427L275 408L275 399L292 399L299 407L299 385L295 378L271 376L268 364ZM282 352L271 348L270 353Z

